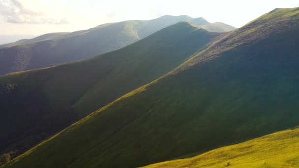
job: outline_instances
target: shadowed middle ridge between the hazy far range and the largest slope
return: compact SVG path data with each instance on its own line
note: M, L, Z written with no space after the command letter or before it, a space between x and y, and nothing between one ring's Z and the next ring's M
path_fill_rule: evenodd
M0 153L24 152L171 71L220 35L180 22L86 61L0 77Z

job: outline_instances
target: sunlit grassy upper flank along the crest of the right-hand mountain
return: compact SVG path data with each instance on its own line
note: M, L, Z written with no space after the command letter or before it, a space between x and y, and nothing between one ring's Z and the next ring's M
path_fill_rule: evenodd
M274 9L232 33L229 33L213 45L210 45L209 48L200 52L197 56L194 56L188 62L181 65L178 70L209 61L230 51L236 51L238 50L238 47L254 45L258 41L265 40L266 38L273 37L274 35L278 38L280 37L279 33L286 31L289 31L289 34L292 32L295 33L299 24L298 18L299 8ZM282 41L277 41L277 39L273 42L282 43ZM295 41L293 40L293 42Z

